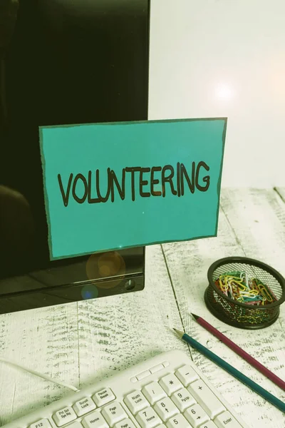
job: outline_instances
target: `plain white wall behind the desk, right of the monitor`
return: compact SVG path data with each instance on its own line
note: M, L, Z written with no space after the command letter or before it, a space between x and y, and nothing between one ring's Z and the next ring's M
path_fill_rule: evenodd
M285 0L152 0L149 119L228 117L222 186L285 185Z

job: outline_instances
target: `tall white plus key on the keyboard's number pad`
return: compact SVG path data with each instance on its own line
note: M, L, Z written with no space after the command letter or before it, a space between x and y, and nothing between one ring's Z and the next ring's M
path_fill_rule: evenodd
M215 394L207 387L202 379L196 380L187 388L188 391L195 397L200 406L203 407L204 411L209 414L211 419L217 416L217 414L224 412L226 409L216 397Z

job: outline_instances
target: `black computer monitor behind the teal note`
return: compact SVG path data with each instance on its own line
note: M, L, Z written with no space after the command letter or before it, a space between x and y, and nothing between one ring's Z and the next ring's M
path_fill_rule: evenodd
M19 2L1 58L0 313L144 287L143 247L50 261L38 126L147 119L149 14L147 0Z

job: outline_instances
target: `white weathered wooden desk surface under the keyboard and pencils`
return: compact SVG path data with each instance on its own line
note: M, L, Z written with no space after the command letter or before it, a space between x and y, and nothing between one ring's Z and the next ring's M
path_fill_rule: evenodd
M201 315L285 379L285 304L274 325L255 331L230 327L205 307L209 265L232 255L264 261L285 275L285 189L222 190L217 238L148 247L141 292L0 315L0 355L82 388L159 352L182 349L249 427L284 428L285 414L172 333L172 327L184 328L285 401L285 392L189 315ZM0 426L66 394L70 390L0 362Z

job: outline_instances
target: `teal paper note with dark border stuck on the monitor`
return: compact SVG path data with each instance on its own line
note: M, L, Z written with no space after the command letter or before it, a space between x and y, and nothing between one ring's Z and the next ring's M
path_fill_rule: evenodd
M51 260L217 235L226 118L40 128Z

